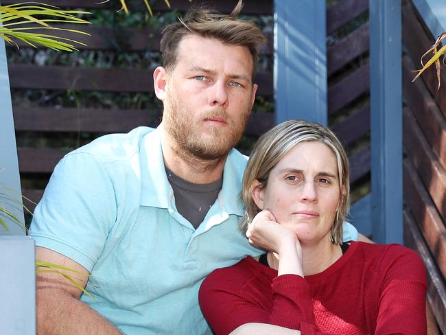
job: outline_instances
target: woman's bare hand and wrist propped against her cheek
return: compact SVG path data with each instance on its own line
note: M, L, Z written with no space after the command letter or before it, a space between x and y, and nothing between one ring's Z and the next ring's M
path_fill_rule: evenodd
M257 213L246 231L250 244L272 251L279 262L278 274L303 277L302 249L296 233L283 227L268 209ZM274 262L275 263L275 262ZM270 264L273 265L274 264Z

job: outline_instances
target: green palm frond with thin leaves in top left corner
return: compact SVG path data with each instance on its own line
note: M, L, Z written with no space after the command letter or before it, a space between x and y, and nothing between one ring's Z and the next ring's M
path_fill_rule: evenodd
M54 50L73 51L77 50L75 45L85 45L70 38L43 34L35 30L51 32L63 31L76 34L89 35L80 30L51 27L50 23L75 23L89 24L89 21L80 19L78 14L89 14L81 10L60 10L53 5L44 3L24 2L14 5L0 5L0 38L8 43L17 44L23 41L32 47L43 45ZM27 25L23 27L21 25ZM32 27L28 25L34 25ZM19 26L19 27L17 27ZM30 32L32 30L33 32Z

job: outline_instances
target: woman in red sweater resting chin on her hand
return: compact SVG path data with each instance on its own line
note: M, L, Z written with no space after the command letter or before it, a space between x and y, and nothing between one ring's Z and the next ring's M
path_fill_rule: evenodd
M397 244L342 244L347 155L331 130L266 132L244 174L242 230L266 249L215 270L200 306L215 334L425 334L425 270Z

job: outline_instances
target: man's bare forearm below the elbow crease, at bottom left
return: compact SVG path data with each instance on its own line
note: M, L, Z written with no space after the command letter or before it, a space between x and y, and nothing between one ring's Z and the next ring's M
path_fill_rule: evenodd
M89 305L57 289L37 290L38 335L122 335Z

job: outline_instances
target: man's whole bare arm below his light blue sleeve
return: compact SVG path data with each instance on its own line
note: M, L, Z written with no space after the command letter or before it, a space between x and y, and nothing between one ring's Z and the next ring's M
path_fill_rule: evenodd
M36 259L67 266L85 274L89 273L69 257L39 246L36 247ZM64 273L75 277L81 287L86 286L87 275L78 273L73 275L70 271ZM81 294L79 288L57 273L38 273L36 275L37 334L121 335L115 326L79 300Z

